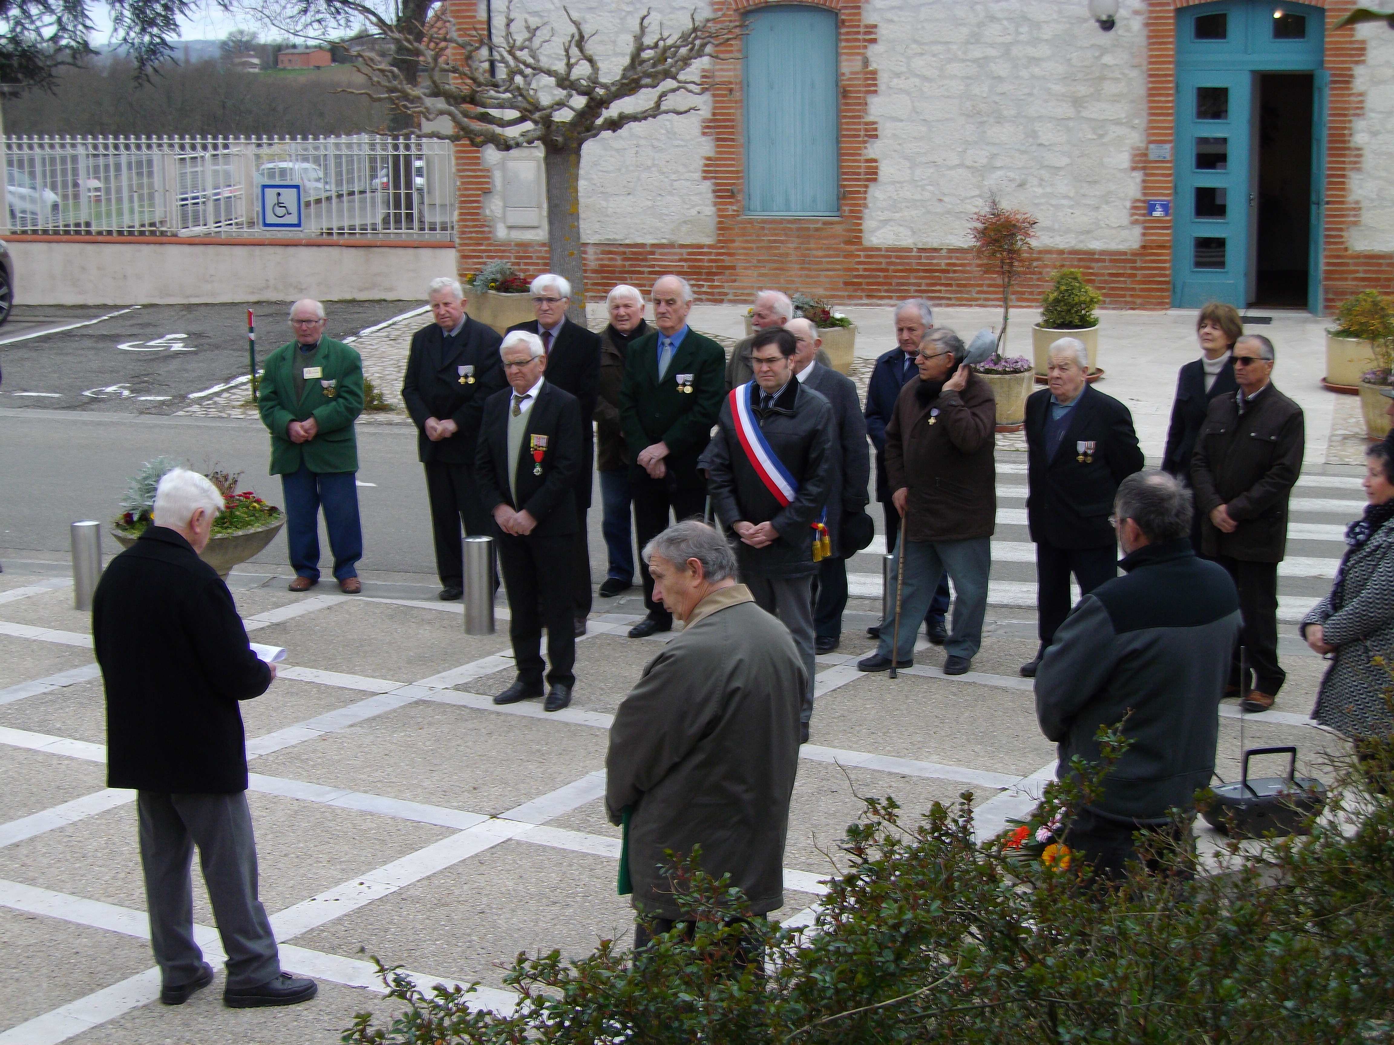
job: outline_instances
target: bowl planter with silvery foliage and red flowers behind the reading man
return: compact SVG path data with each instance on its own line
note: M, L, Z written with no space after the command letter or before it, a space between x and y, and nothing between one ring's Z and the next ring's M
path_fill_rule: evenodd
M131 477L121 500L121 514L113 520L110 531L121 548L134 545L151 525L155 489L164 472L178 467L180 463L173 457L156 457L145 461ZM206 478L223 495L223 511L213 520L213 536L198 557L217 570L217 575L226 581L234 566L245 563L272 542L286 524L286 514L251 490L238 493L241 472L229 474L213 465Z

